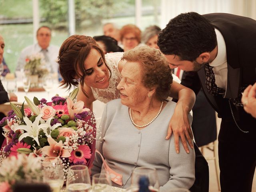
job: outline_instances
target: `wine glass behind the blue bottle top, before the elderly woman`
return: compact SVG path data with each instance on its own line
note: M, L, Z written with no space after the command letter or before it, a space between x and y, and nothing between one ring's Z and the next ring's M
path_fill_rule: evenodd
M156 192L159 190L159 182L158 182L156 168L137 167L132 172L130 191L136 192L139 190L139 180L142 176L148 178L148 181L149 181L148 189L150 191Z

